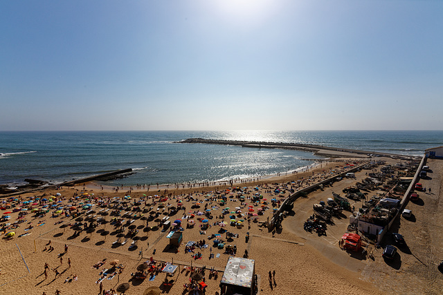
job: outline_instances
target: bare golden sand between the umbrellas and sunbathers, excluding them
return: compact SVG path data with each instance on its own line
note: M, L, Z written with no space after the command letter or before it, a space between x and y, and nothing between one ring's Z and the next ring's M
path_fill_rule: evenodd
M244 196L246 196L246 205L242 206L242 212L247 212L245 209L252 204L249 198L251 198L254 193L262 194L263 198L266 198L268 201L272 198L284 200L284 198L289 195L289 192L286 191L280 194L273 193L276 187L284 189L282 184L286 184L289 181L296 182L296 180L301 178L306 180L308 177L313 178L312 182L315 182L325 177L323 170L341 169L341 167L336 166L343 166L343 162L323 163L321 166L317 166L316 169L311 169L306 173L284 175L280 176L280 178L267 178L248 184L236 184L241 187L247 187L247 192L245 191L244 193ZM259 186L259 188L255 190L257 186ZM62 200L62 204L69 204L68 200L73 198L74 193L82 191L82 188L82 186L74 188L63 187L57 191L47 190L28 193L22 195L21 199L27 200L30 196L42 196L44 193L46 193L46 197L55 196L55 193L60 193L62 195L60 198L66 198L66 200ZM101 190L98 185L93 183L87 184L86 189L87 193L94 193L94 197L98 198L105 195L109 198L119 197L120 200L122 200L123 196L125 196L125 193L123 193L125 189L121 189L121 192L115 193L109 188ZM162 188L160 192L150 191L150 193L142 190L132 191L132 200L130 200L130 202L134 202L134 199L140 200L143 193L148 196L152 195L152 199L147 199L147 203L149 204L147 207L154 207L153 211L156 211L158 203L155 205L152 203L154 200L159 201L159 199L156 199L154 194L158 193L160 195L164 192L163 189L164 188ZM216 190L221 191L222 189L222 187L181 190L168 189L168 193L172 193L173 196L182 195L180 198L183 200L183 207L186 207L186 212L179 211L176 215L170 216L170 220L181 219L184 213L188 213L189 211L204 211L204 205L206 203L208 204L208 208L213 206L219 207L219 209L211 211L213 216L219 216L221 209L224 207L230 207L230 210L235 210L235 207L240 207L239 200L234 198L235 193L232 195L228 193L228 202L224 206L219 205L219 202L205 201L205 198L214 196ZM266 191L271 191L271 193ZM188 202L185 199L190 193L201 202L200 209L190 208L192 202ZM237 201L230 200L230 198ZM165 201L165 204L169 202L172 206L176 206L177 201L178 199L176 197ZM308 202L308 199L306 202ZM93 209L98 211L100 209L98 203L93 202L93 204L95 204ZM261 206L262 204L253 207L255 210L253 213L256 213L257 209ZM272 216L272 205L266 204L266 206L270 207L270 209L266 210L262 216L257 216L257 222L251 221L250 229L248 229L246 216L236 218L236 220L245 220L242 228L231 227L230 225L224 227L224 229L239 236L227 242L226 245L236 245L237 256L240 257L243 256L245 249L247 249L249 258L255 260L256 273L260 275L261 279L260 294L379 293L378 289L373 285L360 280L358 272L352 272L350 269L345 269L330 262L319 251L314 249L314 247L305 244L304 238L300 238L285 229L283 229L281 233L275 233L275 231L269 233L265 227L259 227L260 222L266 221L267 218L271 218ZM144 207L144 202L141 207ZM161 212L159 218L163 218L163 216L166 216L163 215L163 213L167 214L168 212L167 209L165 209L165 211L162 210L163 209L159 209ZM98 213L93 215L100 217ZM9 222L17 221L18 213L11 213L10 216L11 219ZM230 214L225 216L225 221L229 221L228 216L230 216ZM196 218L197 217L199 216L196 216ZM113 218L113 216L105 216L105 219L108 221L111 220L111 218ZM215 269L219 270L217 280L209 278L208 272L206 272L206 284L208 285L206 294L215 294L215 292L219 291L219 281L223 275L223 270L229 255L224 254L224 250L213 247L212 253L215 254L215 256L219 254L219 258L209 259L210 248L199 249L195 252L200 251L202 258L195 260L191 257L190 253L185 253L184 249L186 242L203 239L206 240L208 245L213 246L213 242L208 240L208 236L218 233L221 227L219 227L219 225L213 225L213 223L221 220L215 217L210 219L208 223L211 227L206 230L206 234L200 234L199 226L202 223L196 218L194 218L197 223L195 227L183 231L183 243L179 247L179 252L174 253L168 249L169 239L166 238L168 231L162 232L161 227L157 230L144 231L146 226L145 220L137 219L133 223L138 229L137 236L140 237L140 240L136 241L136 247L129 249L130 239L126 245L113 247L112 242L117 240L117 233L109 223L107 225L98 225L91 234L83 231L80 236L74 237L74 231L70 227L60 228L60 226L64 224L73 224L75 220L72 218L66 218L64 216L53 218L51 217L51 213L48 213L43 218L34 218L33 214L29 213L24 218L26 222L21 223L17 229L14 229L16 236L14 236L12 240L0 240L2 249L2 259L0 262L0 294L43 294L43 292L46 292L46 294L54 294L56 289L60 290L60 294L98 294L99 285L96 284L96 280L100 278L100 270L110 268L109 261L114 259L120 260L120 263L125 269L119 276L115 276L111 280L103 280L104 289L115 289L120 283L129 282L130 287L125 294L142 294L143 290L147 287L161 287L163 280L166 278L165 274L160 273L153 281L147 279L130 280L131 273L136 272L137 265L147 261L150 257L153 257L154 260L157 261L172 262L172 260L174 260L174 265L179 265L179 272L172 278L174 279L172 287L162 287L168 294L183 294L183 284L189 283L190 274L188 274L186 269L183 269L183 266L191 265L192 263L193 266L199 267L205 265L207 269L215 267ZM28 227L28 222L32 222L31 225L34 227L33 229L25 231L24 229ZM44 222L44 225L37 227L39 222ZM55 225L57 222L62 223ZM182 222L183 225L186 225L186 220ZM157 223L158 222L150 221L149 226L154 227ZM104 235L103 231L108 231L109 233ZM250 233L248 243L246 243L245 240L246 232ZM18 237L25 233L30 233L30 235ZM221 237L226 240L226 234L222 234ZM54 247L54 250L44 251L44 248L48 247L46 244L48 244L49 240L51 240L51 246ZM68 245L69 250L66 254L63 254L63 262L61 264L58 255L64 252L65 244ZM143 258L141 252L143 252ZM67 263L68 258L71 259L70 268ZM100 269L94 269L92 267L104 258L107 258L107 264ZM50 267L47 279L44 278L43 274L45 263L48 263ZM57 278L55 278L55 272L52 271L52 269L55 268L61 273ZM268 283L267 275L270 270L275 270L276 272L276 285L273 285L272 289ZM65 282L66 279L73 278L74 274L78 276L78 280L71 282L68 280L68 282Z

